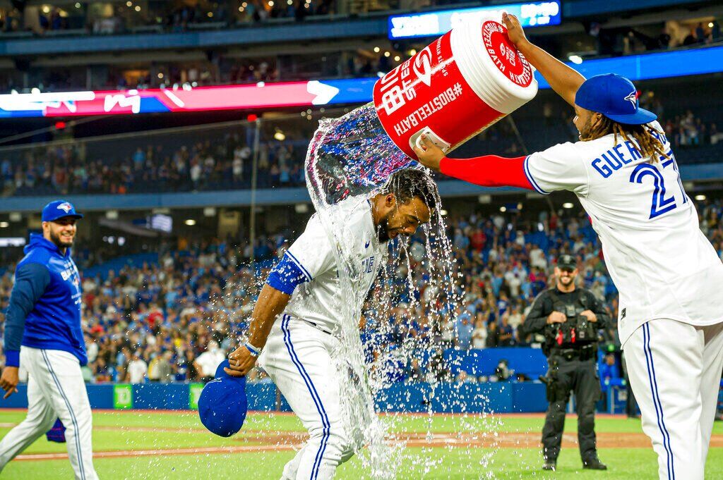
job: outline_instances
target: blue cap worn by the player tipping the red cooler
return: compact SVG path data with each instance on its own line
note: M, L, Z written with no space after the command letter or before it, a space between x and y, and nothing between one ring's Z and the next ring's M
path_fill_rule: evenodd
M641 125L658 118L655 113L640 108L638 90L633 82L617 74L596 75L587 79L578 88L575 103L626 125Z

